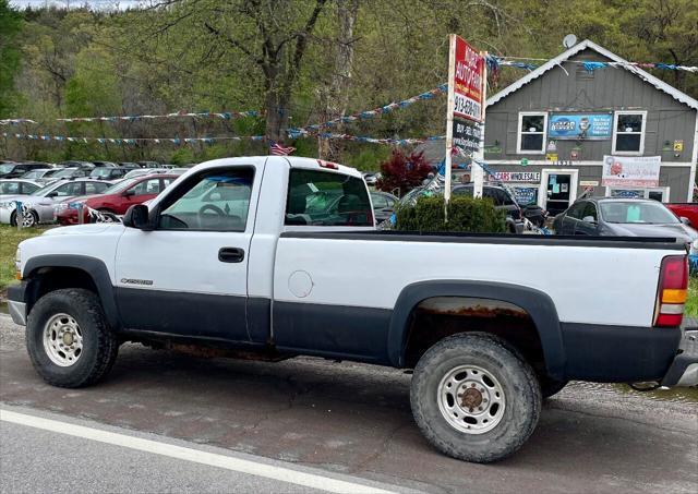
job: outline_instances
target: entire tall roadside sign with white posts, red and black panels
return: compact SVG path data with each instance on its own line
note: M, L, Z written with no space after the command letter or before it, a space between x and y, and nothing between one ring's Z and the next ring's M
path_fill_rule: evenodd
M448 106L446 112L445 191L446 204L450 200L453 154L464 150L484 159L484 101L486 68L484 56L477 52L460 36L448 39ZM480 125L479 125L480 124ZM474 195L482 196L483 170L471 167ZM478 189L479 183L479 189Z

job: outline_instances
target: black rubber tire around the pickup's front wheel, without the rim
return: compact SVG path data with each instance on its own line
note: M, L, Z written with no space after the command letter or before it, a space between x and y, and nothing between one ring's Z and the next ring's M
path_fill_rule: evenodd
M82 334L82 352L69 366L56 364L44 346L44 330L57 314L73 317ZM89 290L68 288L41 297L32 308L26 325L26 348L36 372L48 384L76 388L100 381L111 370L119 341L109 328L99 298Z

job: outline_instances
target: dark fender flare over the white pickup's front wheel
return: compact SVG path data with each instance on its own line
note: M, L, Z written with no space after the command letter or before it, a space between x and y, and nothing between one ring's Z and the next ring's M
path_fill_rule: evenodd
M101 301L101 306L109 325L113 329L121 327L115 289L111 285L109 269L107 269L104 261L87 255L75 254L37 255L31 257L24 266L24 273L27 274L26 277L29 282L32 274L43 267L72 267L87 273L94 281L95 287L97 287L97 294ZM29 296L32 297L32 302L35 302L36 293L31 291ZM28 311L31 311L29 305L27 305L27 313Z

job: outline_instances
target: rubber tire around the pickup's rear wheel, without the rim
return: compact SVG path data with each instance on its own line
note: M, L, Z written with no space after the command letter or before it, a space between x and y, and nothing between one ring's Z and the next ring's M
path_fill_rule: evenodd
M441 411L440 383L460 365L484 370L503 389L501 419L486 432L459 431ZM436 449L453 458L486 463L512 455L526 443L538 424L542 398L535 373L516 351L491 335L471 333L445 338L422 356L414 368L410 400L417 425Z

